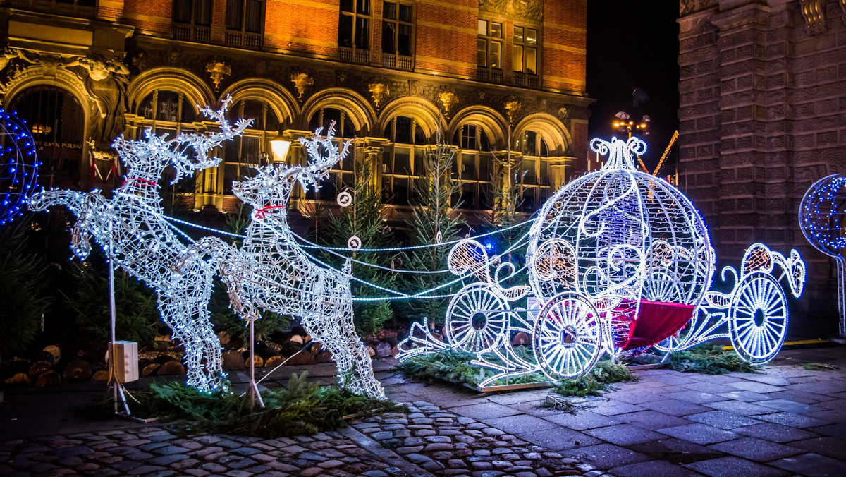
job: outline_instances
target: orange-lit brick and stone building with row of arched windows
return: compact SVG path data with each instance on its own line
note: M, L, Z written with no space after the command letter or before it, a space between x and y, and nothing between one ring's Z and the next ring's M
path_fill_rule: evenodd
M217 169L183 186L194 208L232 209L231 183L269 141L338 122L391 210L409 203L441 135L458 151L468 212L491 207L495 160L522 171L534 210L586 158L585 0L0 0L3 103L28 119L42 184L88 189L119 174L108 145L208 130L197 105L233 97L255 119ZM90 154L96 152L96 154ZM304 160L294 145L288 160ZM353 174L332 171L333 200ZM300 198L304 199L303 195ZM315 197L312 197L315 198ZM473 214L470 214L471 216Z

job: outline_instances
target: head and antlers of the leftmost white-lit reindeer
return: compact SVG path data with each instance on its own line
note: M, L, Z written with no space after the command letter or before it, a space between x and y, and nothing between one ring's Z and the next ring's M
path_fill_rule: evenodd
M209 107L200 109L206 118L220 124L218 132L181 133L173 139L168 139L167 135L156 136L152 130L147 129L144 131L143 140L124 139L124 135L120 135L113 142L112 147L118 151L127 169L135 171L129 172L129 175L144 175L144 173L158 175L165 166L172 165L176 175L171 184L175 184L184 176L192 175L195 170L220 164L220 158L211 155L211 151L220 146L223 141L240 136L252 123L252 119L238 119L234 126L230 125L226 118L229 103L232 103L232 97L227 96L217 111ZM192 149L193 157L190 157L188 153Z

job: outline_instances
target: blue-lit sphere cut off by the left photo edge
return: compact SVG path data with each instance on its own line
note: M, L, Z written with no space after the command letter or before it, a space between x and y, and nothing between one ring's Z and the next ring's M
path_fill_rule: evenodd
M36 190L38 157L24 121L0 108L0 225L23 214Z

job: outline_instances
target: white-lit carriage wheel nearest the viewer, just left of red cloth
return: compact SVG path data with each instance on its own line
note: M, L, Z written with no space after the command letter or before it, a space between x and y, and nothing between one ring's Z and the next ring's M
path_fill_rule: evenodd
M584 296L565 291L552 297L535 322L535 358L552 380L574 378L602 355L601 319Z

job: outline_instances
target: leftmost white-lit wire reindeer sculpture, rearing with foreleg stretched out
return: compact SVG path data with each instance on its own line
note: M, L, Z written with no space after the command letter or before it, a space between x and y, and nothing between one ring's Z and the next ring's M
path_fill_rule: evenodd
M80 260L91 252L93 236L109 259L157 292L162 320L184 346L188 385L201 391L221 387L223 378L220 341L211 328L207 308L215 267L179 241L164 217L158 180L168 166L175 171L171 181L175 184L220 162L210 156L211 151L250 125L246 119L229 125L225 113L230 102L227 98L219 111L202 109L221 125L220 132L182 133L166 139L146 130L143 141L119 136L113 147L124 160L127 173L111 199L98 190L40 191L30 199L32 210L65 205L76 215L71 249ZM191 149L194 158L186 155Z

